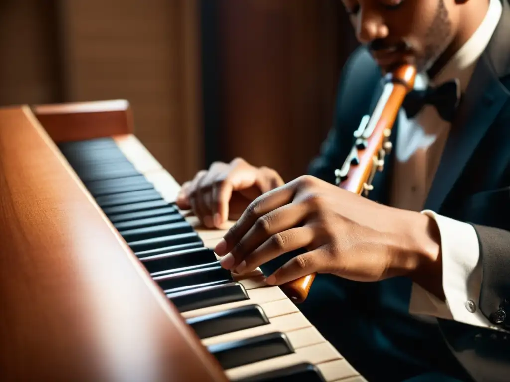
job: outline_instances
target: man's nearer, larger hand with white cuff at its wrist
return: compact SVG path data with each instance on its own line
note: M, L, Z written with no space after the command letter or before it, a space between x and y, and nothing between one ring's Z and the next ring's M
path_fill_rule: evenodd
M224 268L242 274L299 248L308 252L277 269L268 284L313 272L357 281L403 275L441 279L439 232L430 217L377 204L308 175L254 200L215 252Z

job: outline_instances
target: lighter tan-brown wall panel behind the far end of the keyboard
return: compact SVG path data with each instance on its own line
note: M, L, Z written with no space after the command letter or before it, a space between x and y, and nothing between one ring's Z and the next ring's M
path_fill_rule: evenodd
M195 0L61 1L65 96L125 98L135 133L178 181L201 167Z

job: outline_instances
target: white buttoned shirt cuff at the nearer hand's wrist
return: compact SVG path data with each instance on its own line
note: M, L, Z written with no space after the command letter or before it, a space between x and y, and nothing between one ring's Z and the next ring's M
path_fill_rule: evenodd
M430 210L422 213L436 221L441 234L443 291L446 302L414 283L410 313L492 327L491 322L478 309L481 262L474 228Z

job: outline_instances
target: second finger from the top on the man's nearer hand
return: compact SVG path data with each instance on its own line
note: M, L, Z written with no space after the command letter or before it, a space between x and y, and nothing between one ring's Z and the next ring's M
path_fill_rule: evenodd
M259 217L230 253L222 259L221 265L229 266L226 269L236 267L271 236L296 227L307 215L307 206L304 203L287 204Z

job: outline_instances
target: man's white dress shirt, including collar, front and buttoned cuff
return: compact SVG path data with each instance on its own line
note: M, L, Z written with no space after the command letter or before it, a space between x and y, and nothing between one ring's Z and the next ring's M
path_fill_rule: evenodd
M465 91L474 67L487 47L501 16L499 0L491 0L486 17L472 37L459 49L443 70L430 83L440 85L457 78ZM426 75L418 74L415 88L427 85ZM436 174L448 138L450 124L441 119L436 108L425 106L414 119L399 115L399 131L395 148L395 168L391 205L421 211ZM453 319L478 326L493 326L479 311L481 285L478 238L472 226L422 211L438 224L441 234L443 290L446 302L413 285L410 312L417 315ZM469 283L468 283L469 280Z

